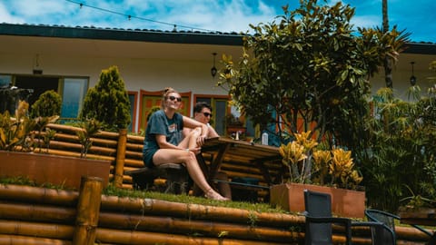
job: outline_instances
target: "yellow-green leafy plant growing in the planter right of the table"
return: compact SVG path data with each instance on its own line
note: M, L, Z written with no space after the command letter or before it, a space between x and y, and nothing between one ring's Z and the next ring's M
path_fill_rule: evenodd
M316 149L318 143L310 139L310 131L293 135L295 141L282 144L279 148L282 163L289 169L289 181L329 183L346 189L355 189L362 181L362 176L354 170L352 152Z

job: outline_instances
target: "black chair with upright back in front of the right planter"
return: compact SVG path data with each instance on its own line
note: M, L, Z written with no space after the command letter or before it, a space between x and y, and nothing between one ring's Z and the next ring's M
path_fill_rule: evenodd
M332 241L332 224L342 225L345 233L345 244L352 244L352 227L369 227L372 230L383 229L378 221L352 222L348 218L332 217L332 198L330 194L304 190L304 205L306 216L305 244L330 245ZM373 245L384 244L376 237L372 237Z

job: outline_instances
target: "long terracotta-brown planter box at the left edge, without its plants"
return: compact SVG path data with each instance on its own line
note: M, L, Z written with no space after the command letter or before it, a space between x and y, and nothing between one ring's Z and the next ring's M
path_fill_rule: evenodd
M1 177L27 177L37 184L52 183L80 189L82 176L99 177L107 186L111 162L38 154L0 152Z

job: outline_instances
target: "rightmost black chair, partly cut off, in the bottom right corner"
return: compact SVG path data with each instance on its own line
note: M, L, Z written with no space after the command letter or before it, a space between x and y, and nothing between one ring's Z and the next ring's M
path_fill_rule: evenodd
M381 240L382 243L380 244L397 244L395 220L401 220L399 216L378 210L365 210L365 216L370 221L377 221L383 224L383 229L372 229L372 239ZM431 238L432 234L430 231L424 230L418 225L411 226L421 230Z

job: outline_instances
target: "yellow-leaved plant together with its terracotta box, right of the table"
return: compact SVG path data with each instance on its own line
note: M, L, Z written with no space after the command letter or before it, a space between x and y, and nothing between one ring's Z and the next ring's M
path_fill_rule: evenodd
M304 211L303 190L332 195L332 212L345 217L363 218L365 192L356 191L362 176L354 170L351 152L341 148L322 150L311 132L294 133L295 141L282 144L282 163L289 181L270 189L270 203L288 211Z

